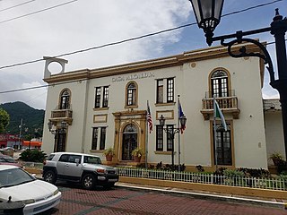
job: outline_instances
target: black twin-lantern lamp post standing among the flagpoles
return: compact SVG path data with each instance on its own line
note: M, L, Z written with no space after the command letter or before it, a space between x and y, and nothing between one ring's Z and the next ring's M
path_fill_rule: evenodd
M172 140L172 146L171 146L171 165L172 167L174 166L174 137L175 137L175 134L176 133L179 133L181 130L180 130L180 127L178 128L170 128L170 127L166 127L164 128L164 125L165 125L165 118L164 116L161 115L160 119L159 119L159 122L160 122L160 125L163 127L163 130L169 134L169 137L170 139ZM180 116L179 117L179 123L181 125L181 127L185 127L186 124L187 124L187 117L186 116ZM178 151L179 153L179 151ZM179 167L180 164L178 164L178 169L180 168Z

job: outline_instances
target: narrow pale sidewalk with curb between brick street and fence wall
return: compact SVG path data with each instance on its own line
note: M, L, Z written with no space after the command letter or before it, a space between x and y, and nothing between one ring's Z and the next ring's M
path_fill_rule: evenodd
M135 184L122 183L122 182L117 182L116 186L122 187L122 188L126 187L129 189L140 189L140 190L145 190L145 191L155 191L155 192L162 192L162 193L186 194L186 195L191 195L195 198L200 198L200 199L265 205L265 206L275 207L275 208L284 208L287 210L287 200L283 200L283 199L268 199L268 198L259 198L259 197L250 198L246 196L232 195L229 193L190 191L190 190L178 189L178 188L173 188L173 187L135 185Z

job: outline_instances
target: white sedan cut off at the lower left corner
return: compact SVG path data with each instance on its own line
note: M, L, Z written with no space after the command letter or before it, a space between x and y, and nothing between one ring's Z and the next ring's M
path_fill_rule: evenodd
M38 180L22 168L0 165L0 202L22 202L23 214L36 214L57 206L57 186Z

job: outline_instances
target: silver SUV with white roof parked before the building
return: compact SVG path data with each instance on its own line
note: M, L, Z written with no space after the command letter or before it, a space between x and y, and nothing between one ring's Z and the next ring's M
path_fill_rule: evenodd
M100 157L74 152L55 152L43 165L43 179L55 184L57 179L82 183L84 189L95 185L111 187L118 181L117 169L101 164Z

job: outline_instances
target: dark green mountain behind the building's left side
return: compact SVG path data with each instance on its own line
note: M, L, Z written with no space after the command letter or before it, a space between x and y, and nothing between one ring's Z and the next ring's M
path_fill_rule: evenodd
M42 136L45 110L35 109L21 101L0 104L1 107L10 116L6 133L19 134L22 122L22 135Z

